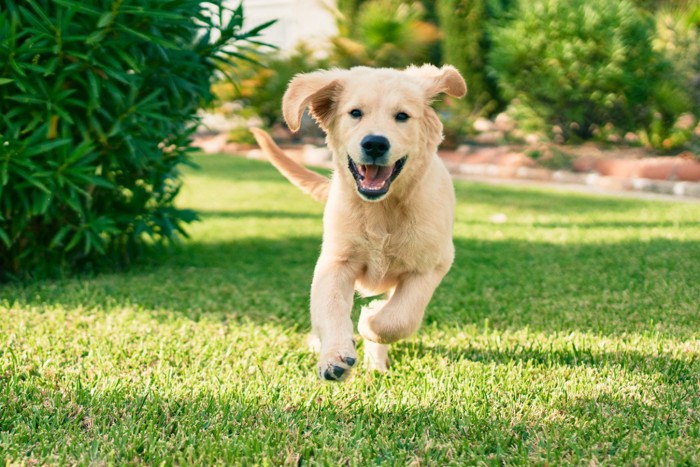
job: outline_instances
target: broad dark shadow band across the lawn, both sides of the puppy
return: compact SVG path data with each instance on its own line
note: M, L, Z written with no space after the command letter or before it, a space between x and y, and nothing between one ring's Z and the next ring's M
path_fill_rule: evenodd
M1 291L37 307L135 305L165 317L220 314L304 329L320 244L315 237L192 243L155 267ZM433 297L427 325L459 328L488 320L496 329L606 335L652 329L677 338L700 329L699 242L458 238L455 245L455 264Z

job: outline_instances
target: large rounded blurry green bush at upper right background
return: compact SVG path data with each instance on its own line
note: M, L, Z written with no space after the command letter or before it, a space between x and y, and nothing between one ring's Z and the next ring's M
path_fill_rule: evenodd
M521 1L494 30L489 63L507 99L567 139L606 124L635 131L666 112L662 98L688 102L652 47L654 33L651 16L627 0Z

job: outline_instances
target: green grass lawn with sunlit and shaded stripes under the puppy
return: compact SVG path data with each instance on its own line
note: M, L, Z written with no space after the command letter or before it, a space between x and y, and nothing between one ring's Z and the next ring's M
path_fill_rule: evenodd
M700 204L457 182L424 326L329 384L322 206L196 159L202 222L159 262L0 288L0 462L700 463Z

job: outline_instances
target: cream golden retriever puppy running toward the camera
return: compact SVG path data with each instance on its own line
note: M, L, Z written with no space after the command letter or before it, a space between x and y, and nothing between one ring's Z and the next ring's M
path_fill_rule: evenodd
M363 308L365 362L386 371L388 344L413 334L452 265L454 189L437 156L442 123L430 106L440 93L461 97L453 67L357 67L297 75L282 102L287 125L304 110L327 134L329 180L298 165L262 130L253 133L293 184L327 200L323 246L311 285L318 374L343 380L357 361L350 311L354 291L385 300Z

